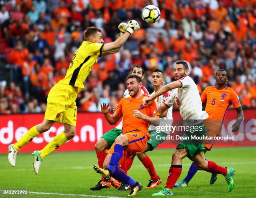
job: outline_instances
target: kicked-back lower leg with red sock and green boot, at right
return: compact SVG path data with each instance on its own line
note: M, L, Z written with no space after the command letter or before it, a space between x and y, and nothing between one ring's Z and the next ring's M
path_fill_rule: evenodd
M233 182L233 175L234 169L233 168L226 168L216 164L213 161L205 160L204 152L200 152L198 155L193 157L193 161L197 165L198 170L205 170L210 173L217 173L222 174L225 177L225 180L228 183L228 191L232 191L234 187Z

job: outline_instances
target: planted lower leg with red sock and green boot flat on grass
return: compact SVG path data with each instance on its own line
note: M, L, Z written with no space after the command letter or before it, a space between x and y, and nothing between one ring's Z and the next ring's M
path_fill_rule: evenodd
M175 150L174 154L172 155L172 166L169 169L169 175L165 188L163 188L159 193L154 193L152 196L173 195L172 188L182 173L182 159L187 155L188 152L186 149Z

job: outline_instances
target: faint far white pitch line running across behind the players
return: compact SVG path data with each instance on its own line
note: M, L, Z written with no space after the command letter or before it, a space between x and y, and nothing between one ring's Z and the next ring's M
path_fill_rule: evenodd
M241 164L256 164L256 162L218 162L218 164L229 164L229 165L241 165ZM169 164L154 164L155 167L169 167L171 163ZM182 164L182 166L190 166L191 163ZM144 168L143 165L133 165L134 168ZM92 166L74 166L74 167L56 167L56 168L45 168L44 170L83 170L83 169L92 169ZM10 169L0 169L0 172L4 171L30 171L32 168L10 168Z

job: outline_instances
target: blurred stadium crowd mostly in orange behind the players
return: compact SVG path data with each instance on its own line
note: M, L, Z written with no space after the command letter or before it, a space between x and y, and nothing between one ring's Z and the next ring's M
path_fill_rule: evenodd
M0 114L40 113L49 90L64 78L88 26L103 30L105 43L118 24L135 19L141 28L119 53L99 58L77 98L79 111L100 112L123 98L134 65L145 71L151 93L154 68L173 80L177 60L189 62L200 93L215 85L215 71L228 71L228 86L243 108L256 107L256 4L254 0L6 0L0 9L0 54L13 65L13 82L0 83ZM161 19L143 22L141 9L154 3Z

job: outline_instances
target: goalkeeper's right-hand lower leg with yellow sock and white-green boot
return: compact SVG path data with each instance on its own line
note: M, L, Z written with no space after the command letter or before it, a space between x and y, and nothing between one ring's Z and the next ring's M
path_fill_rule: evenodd
M36 175L39 172L39 167L44 160L44 157L51 154L54 150L59 148L59 146L63 145L68 140L72 139L76 134L76 128L70 124L64 124L64 132L56 135L51 142L49 142L41 151L34 151L32 153L34 157L33 168Z

